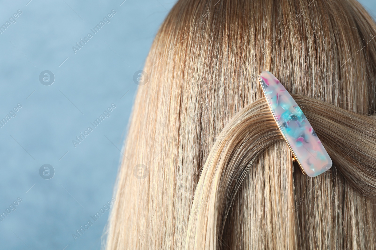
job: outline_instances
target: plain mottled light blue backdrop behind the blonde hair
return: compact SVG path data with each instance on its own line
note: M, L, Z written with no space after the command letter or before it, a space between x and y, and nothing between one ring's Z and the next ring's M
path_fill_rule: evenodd
M376 2L361 2L375 16ZM0 118L22 105L0 128L0 213L22 198L0 222L0 249L99 249L108 212L76 241L72 234L111 200L138 87L133 74L175 1L0 3L0 24L22 11L0 34ZM112 9L110 23L74 54ZM43 70L55 75L52 85L39 82ZM112 103L111 115L74 147ZM56 171L50 180L39 176L44 164Z

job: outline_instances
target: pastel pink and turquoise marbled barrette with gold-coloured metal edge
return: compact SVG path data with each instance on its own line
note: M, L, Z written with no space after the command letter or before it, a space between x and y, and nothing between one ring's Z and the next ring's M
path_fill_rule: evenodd
M303 174L315 177L332 167L332 159L293 97L269 71L259 75L262 91L277 126Z

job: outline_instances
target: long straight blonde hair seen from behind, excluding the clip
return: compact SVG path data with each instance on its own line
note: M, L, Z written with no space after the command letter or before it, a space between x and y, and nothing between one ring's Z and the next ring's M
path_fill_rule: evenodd
M107 249L371 249L376 24L355 0L179 0L139 87ZM333 160L291 160L272 72Z

